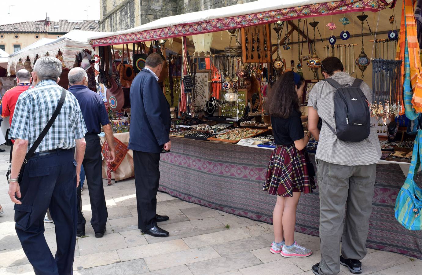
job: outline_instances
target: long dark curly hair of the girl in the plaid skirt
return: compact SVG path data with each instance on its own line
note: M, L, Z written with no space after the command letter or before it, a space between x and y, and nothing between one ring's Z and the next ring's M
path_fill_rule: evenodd
M305 80L300 76L299 83L295 85L295 75L292 71L281 75L276 83L271 86L267 100L265 100L265 110L271 116L283 119L287 119L293 111L300 113L299 98L295 87L299 89L303 81Z

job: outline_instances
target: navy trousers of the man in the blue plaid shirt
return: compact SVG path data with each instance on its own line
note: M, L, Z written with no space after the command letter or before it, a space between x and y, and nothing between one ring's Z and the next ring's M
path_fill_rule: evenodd
M15 204L16 234L35 274L73 274L76 245L76 161L72 150L32 157L25 166ZM56 227L53 257L44 237L47 208Z

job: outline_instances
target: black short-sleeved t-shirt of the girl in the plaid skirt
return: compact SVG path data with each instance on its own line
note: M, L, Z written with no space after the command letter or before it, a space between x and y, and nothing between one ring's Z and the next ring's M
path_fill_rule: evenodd
M278 145L290 146L294 144L295 140L305 137L298 111L293 111L287 119L271 116L271 124L273 126L274 142Z

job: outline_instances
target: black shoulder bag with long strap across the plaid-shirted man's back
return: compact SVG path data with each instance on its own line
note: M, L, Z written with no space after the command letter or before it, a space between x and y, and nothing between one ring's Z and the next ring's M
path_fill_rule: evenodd
M63 103L66 100L66 94L67 94L67 92L68 91L65 88L62 88L62 95L60 96L59 103L57 104L57 107L54 110L53 115L51 116L50 120L47 122L47 124L44 127L43 131L40 133L40 135L35 140L34 144L32 144L31 148L29 149L29 151L25 155L25 159L24 159L24 161L22 163L21 170L20 170L19 175L18 175L18 183L22 182L22 177L24 175L25 165L27 164L28 160L35 153L35 150L37 150L37 148L40 145L41 141L43 141L43 138L47 135L47 132L51 128L51 125L53 125L54 121L56 120L57 116L59 115L60 110L62 110ZM11 173L11 170L12 170L12 164L9 164L9 169L8 169L8 171L6 173L7 180L8 180L8 177L9 177L10 173Z

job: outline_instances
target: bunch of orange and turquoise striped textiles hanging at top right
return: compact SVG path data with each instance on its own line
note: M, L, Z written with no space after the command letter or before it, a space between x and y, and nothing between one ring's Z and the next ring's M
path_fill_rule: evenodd
M407 55L407 58L405 57ZM403 59L402 71L405 75L403 81L403 100L406 116L409 119L416 119L418 112L422 111L422 77L421 77L421 61L419 59L419 43L417 41L416 21L414 17L414 9L412 0L404 0L402 9L402 19L400 27L400 49L398 49L399 59ZM410 85L406 81L406 77L410 78ZM409 96L411 97L411 105L409 106ZM403 112L403 109L402 109Z

